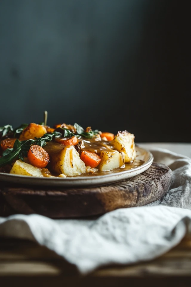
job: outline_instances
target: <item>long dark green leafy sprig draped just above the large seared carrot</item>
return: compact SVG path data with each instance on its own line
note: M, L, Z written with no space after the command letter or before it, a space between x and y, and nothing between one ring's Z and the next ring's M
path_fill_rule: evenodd
M58 138L60 136L60 132L53 132L52 134L45 134L43 137L36 138L35 140L19 141L16 139L13 149L6 149L2 153L3 156L0 158L0 167L12 163L17 156L23 161L24 157L27 157L27 153L32 144L45 146L48 141L52 141L53 138Z

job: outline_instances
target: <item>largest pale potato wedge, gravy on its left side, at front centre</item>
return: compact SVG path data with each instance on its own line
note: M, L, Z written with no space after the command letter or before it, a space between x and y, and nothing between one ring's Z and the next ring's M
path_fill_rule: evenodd
M86 166L74 146L50 142L43 148L50 156L50 167L54 172L67 176L86 172Z

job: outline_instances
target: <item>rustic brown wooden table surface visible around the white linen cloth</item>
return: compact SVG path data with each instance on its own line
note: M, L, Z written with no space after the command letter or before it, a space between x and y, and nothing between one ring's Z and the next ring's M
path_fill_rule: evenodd
M140 144L166 147L191 156L191 144ZM181 152L182 151L182 152ZM0 238L2 286L191 286L191 235L163 256L135 265L108 266L87 276L43 246Z

